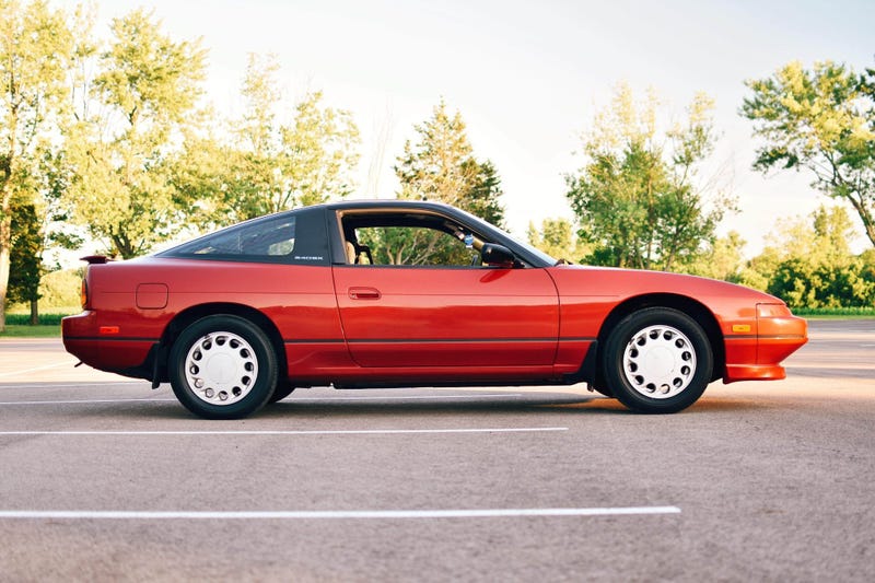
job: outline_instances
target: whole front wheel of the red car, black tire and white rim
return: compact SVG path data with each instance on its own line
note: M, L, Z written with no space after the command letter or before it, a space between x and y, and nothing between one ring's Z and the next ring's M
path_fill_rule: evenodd
M626 316L608 336L602 357L608 389L643 413L674 413L696 403L714 365L701 326L668 307Z

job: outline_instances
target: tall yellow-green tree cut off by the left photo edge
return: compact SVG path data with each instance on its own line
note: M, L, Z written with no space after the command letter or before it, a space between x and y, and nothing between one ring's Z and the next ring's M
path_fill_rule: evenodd
M72 36L62 12L35 0L0 0L0 331L12 249L12 201L30 166L51 147L68 94Z

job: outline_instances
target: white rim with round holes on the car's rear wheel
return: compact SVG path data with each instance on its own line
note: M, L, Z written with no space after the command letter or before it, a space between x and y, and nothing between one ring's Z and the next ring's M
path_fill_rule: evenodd
M243 337L214 331L200 337L185 357L185 380L200 400L233 405L249 394L258 377L255 350Z

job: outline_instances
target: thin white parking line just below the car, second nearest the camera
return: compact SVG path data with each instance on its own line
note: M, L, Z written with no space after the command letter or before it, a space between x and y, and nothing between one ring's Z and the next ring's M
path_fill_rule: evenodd
M313 431L271 431L271 430L228 430L228 431L0 431L0 436L27 435L398 435L429 433L535 433L550 431L568 431L564 427L545 428L483 428L483 429L361 429L361 430L313 430Z

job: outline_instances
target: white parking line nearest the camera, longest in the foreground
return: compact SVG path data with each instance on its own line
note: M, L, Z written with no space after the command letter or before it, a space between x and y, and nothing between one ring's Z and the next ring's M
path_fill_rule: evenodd
M506 518L530 516L622 516L680 514L677 506L486 509L486 510L328 510L328 511L91 511L3 510L0 520L398 520L398 518Z

